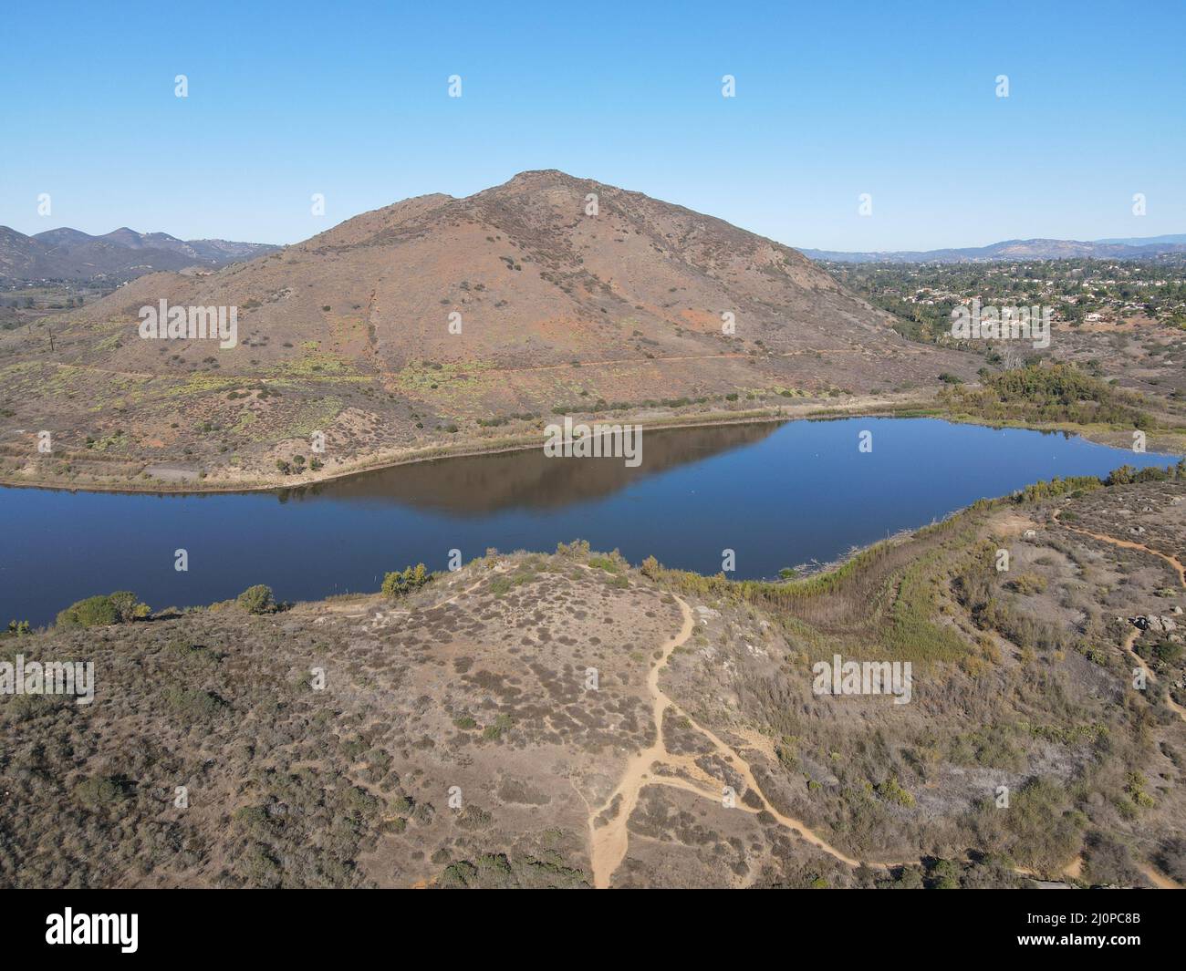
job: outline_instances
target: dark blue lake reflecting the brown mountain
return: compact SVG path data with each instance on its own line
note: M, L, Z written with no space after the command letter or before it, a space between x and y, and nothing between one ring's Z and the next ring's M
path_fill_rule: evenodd
M869 452L859 451L861 432L872 433ZM574 538L701 573L719 571L732 549L734 576L774 576L1039 479L1174 461L1061 433L844 419L645 432L637 468L540 448L279 493L0 488L0 622L46 624L116 589L153 609L254 583L281 600L377 590L387 570L445 569L452 549L468 561L489 547L550 551Z

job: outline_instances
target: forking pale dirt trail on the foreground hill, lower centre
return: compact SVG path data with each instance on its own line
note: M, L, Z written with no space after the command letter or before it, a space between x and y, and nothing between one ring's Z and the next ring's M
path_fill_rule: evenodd
M723 792L721 791L721 780L710 778L699 765L696 765L697 756L674 755L667 750L667 745L663 741L663 715L668 709L671 709L682 717L687 718L688 723L696 732L713 743L715 753L721 755L729 764L729 767L741 777L745 781L746 788L748 788L761 804L760 809L753 809L738 803L735 804L737 809L751 813L758 813L761 811L769 812L783 826L786 826L789 830L797 833L801 839L834 856L836 860L849 867L859 867L859 860L854 860L842 850L836 849L830 843L822 839L803 822L784 816L782 812L776 810L758 787L758 781L754 779L753 769L751 769L750 765L741 759L741 756L738 755L731 746L721 741L721 739L719 739L710 729L699 724L659 688L659 673L667 665L672 651L684 644L688 638L691 637L691 632L695 628L695 619L693 618L691 609L682 598L676 596L675 600L680 605L680 611L683 615L683 625L681 626L680 632L663 645L659 659L651 665L651 670L646 676L646 689L651 696L651 714L655 721L655 743L631 756L630 761L626 764L625 771L623 772L621 779L611 793L610 798L606 799L601 806L592 809L589 812L589 861L593 868L593 886L598 888L608 887L614 871L625 858L626 848L630 842L627 824L635 807L638 805L639 793L645 786L672 786L674 788L681 788L687 792L693 792L696 796L703 796L706 799L714 800L720 800L723 797ZM700 785L696 785L681 775L656 774L656 769L687 772L688 774L695 777L706 787L702 788ZM601 816L607 816L608 820L604 825L598 826L597 820ZM917 863L918 861L911 860L904 862ZM903 865L903 862L872 863L871 865L890 868L900 867Z

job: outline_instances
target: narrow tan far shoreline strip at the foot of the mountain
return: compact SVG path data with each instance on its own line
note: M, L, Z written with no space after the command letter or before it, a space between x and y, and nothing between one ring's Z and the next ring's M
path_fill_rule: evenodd
M952 424L976 424L983 428L1016 428L1029 432L1063 432L1078 437L1084 441L1089 441L1093 445L1103 445L1111 448L1120 448L1122 446L1117 445L1115 440L1109 440L1115 435L1126 434L1128 429L1117 428L1101 428L1096 426L1079 426L1072 422L1057 422L1052 424L1035 424L1025 421L1006 421L1006 422L988 422L977 420L974 415L954 414L945 411L942 408L935 407L930 402L925 401L907 401L907 402L888 402L884 404L871 404L869 407L859 407L850 410L842 408L812 408L806 411L796 409L791 414L786 414L786 405L780 405L777 410L755 409L737 413L709 413L704 415L686 415L671 416L670 420L659 420L651 422L645 427L652 428L655 430L668 430L668 429L686 429L686 428L715 428L731 424L766 424L776 423L782 424L784 422L791 421L839 421L843 419L937 419L939 421L946 421ZM612 417L582 417L580 420L586 424L627 424L627 423L639 423L631 421L631 419L623 417L614 420ZM58 483L46 483L46 481L27 481L27 480L14 480L6 475L0 475L0 487L7 488L32 488L32 490L46 490L53 492L94 492L94 493L109 493L109 494L134 494L134 496L234 496L234 494L259 494L267 492L286 492L293 490L305 490L312 488L325 483L333 483L340 479L349 479L356 475L365 475L372 472L383 472L389 468L398 468L406 465L419 465L421 462L432 462L444 459L464 459L474 458L480 455L503 455L514 452L527 452L533 448L540 447L541 433L533 433L529 437L527 434L495 440L487 446L483 447L477 442L459 442L455 447L449 447L448 443L439 443L432 446L425 446L423 448L415 449L413 452L400 455L394 453L387 458L376 458L374 461L362 460L362 464L357 467L343 468L334 471L327 475L318 475L315 478L301 478L298 481L288 484L283 481L286 477L278 477L276 481L254 481L251 484L230 484L223 483L215 484L203 487L198 483L185 481L178 484L162 483L160 485L141 486L135 480L129 479L127 483L121 483L120 485L109 484L85 484L85 485L63 485ZM1186 429L1168 429L1165 432L1153 432L1149 437L1156 440L1169 439L1166 442L1167 447L1175 447L1174 441L1178 442L1177 447L1181 452L1159 452L1155 448L1150 448L1142 454L1147 455L1163 455L1167 459L1179 459L1182 454L1186 454ZM432 453L432 454L421 454ZM200 480L198 480L200 483Z

